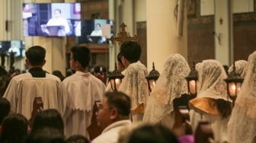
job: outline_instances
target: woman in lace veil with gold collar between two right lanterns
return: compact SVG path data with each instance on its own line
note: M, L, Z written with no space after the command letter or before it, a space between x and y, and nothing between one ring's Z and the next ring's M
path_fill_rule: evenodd
M190 100L190 116L192 127L197 129L200 121L208 121L213 129L215 141L227 141L227 122L231 113L231 103L227 98L226 71L222 64L214 59L204 60L198 71L198 94Z

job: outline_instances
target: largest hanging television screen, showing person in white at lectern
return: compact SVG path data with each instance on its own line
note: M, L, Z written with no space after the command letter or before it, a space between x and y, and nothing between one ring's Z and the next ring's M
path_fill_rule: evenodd
M23 3L23 35L79 37L80 3Z

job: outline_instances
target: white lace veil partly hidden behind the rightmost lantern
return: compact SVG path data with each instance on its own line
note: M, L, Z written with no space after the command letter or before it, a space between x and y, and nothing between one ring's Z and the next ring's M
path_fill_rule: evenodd
M234 65L232 64L229 67L229 74L231 71L233 71ZM238 60L235 61L235 72L240 74L242 78L245 78L245 73L247 71L247 61L245 60Z

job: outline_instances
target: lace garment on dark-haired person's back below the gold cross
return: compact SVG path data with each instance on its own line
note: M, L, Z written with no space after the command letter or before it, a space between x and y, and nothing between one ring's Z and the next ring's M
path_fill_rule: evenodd
M119 91L123 91L131 97L131 110L135 110L139 104L146 103L146 98L149 96L148 82L146 81L148 71L141 62L135 62L126 68L124 74Z

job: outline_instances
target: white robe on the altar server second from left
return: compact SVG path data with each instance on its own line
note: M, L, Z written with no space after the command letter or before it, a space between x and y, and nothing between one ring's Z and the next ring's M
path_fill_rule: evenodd
M105 85L89 72L81 71L75 71L62 83L69 93L68 109L64 116L66 137L85 135L89 138L87 128L91 125L93 105L95 101L102 100Z

